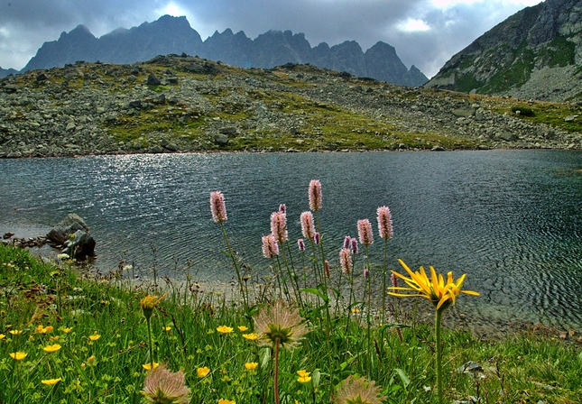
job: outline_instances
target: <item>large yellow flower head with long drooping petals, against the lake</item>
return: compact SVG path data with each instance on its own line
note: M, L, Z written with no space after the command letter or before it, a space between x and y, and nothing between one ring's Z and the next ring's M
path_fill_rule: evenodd
M408 272L411 276L410 278L401 275L398 272L393 271L393 274L401 278L406 282L409 288L403 287L391 287L393 290L406 290L415 292L414 294L404 294L404 293L394 293L388 292L388 294L397 297L408 298L411 296L420 296L421 298L428 298L432 304L439 309L448 308L451 304L455 304L457 296L460 293L467 293L467 295L479 296L479 293L473 290L461 290L463 286L463 281L465 280L466 274L463 274L457 282L453 280L453 272L448 272L447 283L439 273L434 268L430 267L430 279L427 276L424 268L420 267L420 271L412 272L408 266L402 260L398 260L404 270Z

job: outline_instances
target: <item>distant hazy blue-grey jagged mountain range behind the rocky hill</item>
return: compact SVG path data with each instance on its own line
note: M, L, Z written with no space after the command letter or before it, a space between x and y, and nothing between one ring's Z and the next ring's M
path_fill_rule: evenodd
M242 68L271 69L285 63L309 63L409 87L421 86L429 80L416 67L407 69L396 50L382 41L365 52L356 41L332 47L322 42L312 48L303 33L269 31L251 40L245 32L234 33L230 29L215 32L202 41L186 17L170 15L129 30L118 28L100 38L79 25L70 32L62 32L58 41L44 42L22 71L62 67L78 60L134 63L157 55L181 53Z

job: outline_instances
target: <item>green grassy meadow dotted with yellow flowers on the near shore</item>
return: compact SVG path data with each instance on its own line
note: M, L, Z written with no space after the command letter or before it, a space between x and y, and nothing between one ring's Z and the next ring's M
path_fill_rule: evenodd
M4 386L0 400L142 402L143 364L152 358L140 300L162 296L161 287L147 280L130 282L131 269L121 264L90 279L71 265L42 262L27 251L0 245L0 382ZM272 349L243 335L255 331L252 318L258 308L277 298L277 292L257 294L245 311L236 293L231 300L201 292L191 277L185 280L186 288L171 280L166 283L168 294L151 318L153 361L185 372L192 391L189 402L273 402ZM457 304L462 305L463 298ZM350 375L374 380L388 403L436 402L432 326L416 324L409 311L401 311L401 322L378 326L374 321L372 344L367 344L365 318L358 321L357 313L325 299L305 304L300 315L310 332L298 348L281 353L281 402L328 403L338 383ZM52 329L42 333L48 326ZM221 326L233 330L223 334L218 331ZM239 326L248 329L241 331ZM11 334L15 330L22 334ZM446 402L470 396L486 403L579 402L579 344L543 331L540 327L504 340L483 340L467 330L446 329ZM54 353L42 349L52 344L61 348ZM9 356L14 352L27 356L16 361ZM469 361L479 363L483 372L459 372ZM258 365L247 370L245 363ZM197 371L205 367L208 375L199 377ZM298 371L309 372L311 379L299 382ZM42 384L51 379L60 381Z

